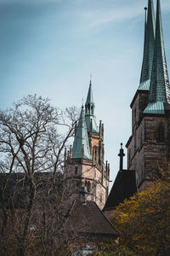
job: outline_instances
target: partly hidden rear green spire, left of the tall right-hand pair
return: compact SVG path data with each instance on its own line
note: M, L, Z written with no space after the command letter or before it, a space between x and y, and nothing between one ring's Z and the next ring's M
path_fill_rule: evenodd
M146 11L146 8L145 8ZM144 25L144 57L138 90L149 90L155 44L155 14L153 0L148 1L148 15Z

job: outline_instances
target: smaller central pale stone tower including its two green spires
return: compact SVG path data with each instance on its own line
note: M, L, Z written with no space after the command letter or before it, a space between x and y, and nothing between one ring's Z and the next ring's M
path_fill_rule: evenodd
M90 81L85 110L82 106L73 148L65 153L65 178L76 181L72 200L82 194L100 209L108 196L110 166L104 164L104 125L94 116L94 97Z

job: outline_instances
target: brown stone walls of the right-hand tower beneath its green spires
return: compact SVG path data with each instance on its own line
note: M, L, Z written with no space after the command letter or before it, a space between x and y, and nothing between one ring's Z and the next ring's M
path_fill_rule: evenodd
M170 115L146 115L147 92L138 92L132 108L132 136L127 142L127 169L136 170L138 190L144 190L169 160Z

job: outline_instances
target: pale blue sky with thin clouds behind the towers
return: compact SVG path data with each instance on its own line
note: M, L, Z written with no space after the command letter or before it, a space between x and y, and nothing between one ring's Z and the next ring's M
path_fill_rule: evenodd
M111 181L120 143L131 136L129 105L139 86L145 6L147 0L0 0L0 108L35 93L59 108L81 107L92 75ZM161 0L161 14L169 68L170 1Z

